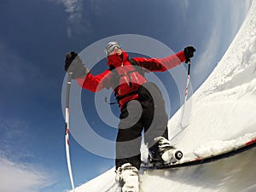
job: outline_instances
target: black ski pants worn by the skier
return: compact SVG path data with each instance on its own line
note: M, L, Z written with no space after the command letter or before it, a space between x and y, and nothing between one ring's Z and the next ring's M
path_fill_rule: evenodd
M124 105L119 116L119 131L116 139L116 169L131 163L137 169L141 165L141 143L149 150L154 148L155 137L168 138L165 101L159 88L153 83L145 83L138 90L138 100Z

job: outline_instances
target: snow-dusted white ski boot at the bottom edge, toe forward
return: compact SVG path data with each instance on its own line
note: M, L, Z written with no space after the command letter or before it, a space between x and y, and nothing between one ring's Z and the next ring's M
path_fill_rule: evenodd
M139 191L139 174L135 166L125 163L116 171L116 183L119 185L120 192L138 192Z

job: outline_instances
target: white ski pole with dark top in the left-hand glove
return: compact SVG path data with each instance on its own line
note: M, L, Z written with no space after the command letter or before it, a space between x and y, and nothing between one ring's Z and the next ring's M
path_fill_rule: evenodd
M65 143L66 143L67 168L68 168L68 172L69 172L69 178L70 178L70 182L71 182L71 185L72 185L73 192L75 192L74 184L73 184L73 174L72 174L71 160L70 160L70 154L69 154L69 96L70 96L71 80L72 80L72 73L68 73L67 92L66 92Z

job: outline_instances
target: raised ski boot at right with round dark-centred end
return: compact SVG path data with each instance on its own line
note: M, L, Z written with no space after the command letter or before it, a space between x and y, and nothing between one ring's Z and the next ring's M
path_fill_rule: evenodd
M149 149L148 156L149 162L154 166L173 164L183 158L183 153L172 146L165 137L156 137L154 141L156 143Z

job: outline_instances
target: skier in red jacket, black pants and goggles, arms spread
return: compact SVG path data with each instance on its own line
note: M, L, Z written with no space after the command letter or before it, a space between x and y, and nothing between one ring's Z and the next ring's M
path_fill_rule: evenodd
M188 46L166 58L129 58L118 42L109 42L105 55L109 69L93 75L74 51L67 53L65 70L84 89L93 92L113 89L119 103L119 131L116 138L116 181L123 192L138 191L142 132L152 159L168 163L173 149L168 140L165 102L159 88L144 73L165 72L190 61L195 48Z

